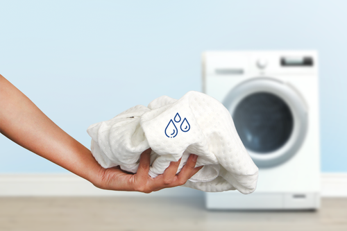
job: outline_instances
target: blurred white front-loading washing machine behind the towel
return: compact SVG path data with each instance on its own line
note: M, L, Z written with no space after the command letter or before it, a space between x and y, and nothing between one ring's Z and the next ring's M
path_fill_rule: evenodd
M221 101L259 167L257 189L207 193L208 209L320 205L316 51L203 53L203 92Z

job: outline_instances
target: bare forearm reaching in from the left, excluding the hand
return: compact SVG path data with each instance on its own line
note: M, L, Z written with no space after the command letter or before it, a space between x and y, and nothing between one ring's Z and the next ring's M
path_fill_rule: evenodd
M92 153L0 75L0 132L13 142L94 182L103 171Z

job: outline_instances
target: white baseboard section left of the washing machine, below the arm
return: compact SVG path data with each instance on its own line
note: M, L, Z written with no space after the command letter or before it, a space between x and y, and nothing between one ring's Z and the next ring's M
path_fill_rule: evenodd
M0 174L0 196L196 196L203 192L187 187L162 189L151 194L110 191L72 173Z

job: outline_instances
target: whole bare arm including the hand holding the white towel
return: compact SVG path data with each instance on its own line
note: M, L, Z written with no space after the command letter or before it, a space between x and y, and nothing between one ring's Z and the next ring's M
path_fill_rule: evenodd
M149 176L151 150L140 157L137 173L122 171L118 166L104 169L88 148L59 128L56 123L0 75L0 132L13 142L75 173L101 189L142 191L150 193L167 187L184 185L202 166L194 168L197 156L192 154L179 174L178 162L171 162L164 173Z

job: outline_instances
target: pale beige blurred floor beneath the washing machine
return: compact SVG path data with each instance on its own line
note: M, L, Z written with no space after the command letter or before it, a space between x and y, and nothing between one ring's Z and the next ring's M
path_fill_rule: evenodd
M347 198L316 212L208 211L203 197L1 197L0 230L347 230Z

